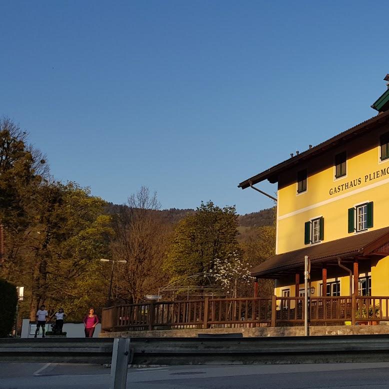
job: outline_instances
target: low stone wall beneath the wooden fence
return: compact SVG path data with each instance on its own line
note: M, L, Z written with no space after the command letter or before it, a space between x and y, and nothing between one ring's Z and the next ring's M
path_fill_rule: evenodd
M153 331L101 332L99 337L197 337L199 333L241 333L243 337L303 336L304 327L254 327L254 328L208 328L166 329ZM310 335L368 335L389 334L389 325L328 325L309 327Z

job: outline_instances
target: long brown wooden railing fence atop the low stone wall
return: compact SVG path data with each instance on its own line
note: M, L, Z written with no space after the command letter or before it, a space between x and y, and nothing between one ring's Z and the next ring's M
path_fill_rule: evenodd
M209 298L104 308L104 331L303 325L304 297ZM310 297L311 325L389 321L389 297Z

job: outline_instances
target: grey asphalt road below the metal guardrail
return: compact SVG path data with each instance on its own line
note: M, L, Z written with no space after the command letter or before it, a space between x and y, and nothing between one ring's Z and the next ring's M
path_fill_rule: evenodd
M0 388L107 388L100 365L0 363ZM389 388L389 363L203 365L130 368L127 389Z

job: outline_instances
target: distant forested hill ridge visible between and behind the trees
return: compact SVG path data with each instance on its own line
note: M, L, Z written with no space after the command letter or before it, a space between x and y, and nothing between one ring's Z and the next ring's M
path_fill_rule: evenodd
M118 213L119 209L125 205L117 205L108 203L106 211L110 214ZM159 216L168 224L175 224L177 221L183 219L188 213L194 212L194 209L162 209L158 211ZM273 210L272 208L262 209L258 212L246 213L238 216L239 225L242 227L261 227L263 225L273 224Z

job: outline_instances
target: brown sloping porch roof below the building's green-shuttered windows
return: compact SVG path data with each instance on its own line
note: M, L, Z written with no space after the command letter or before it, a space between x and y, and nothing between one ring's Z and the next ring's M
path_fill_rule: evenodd
M251 275L258 278L279 278L299 272L304 266L305 255L309 255L311 266L331 262L338 257L366 259L371 255L386 256L389 255L389 227L274 255L253 267Z

